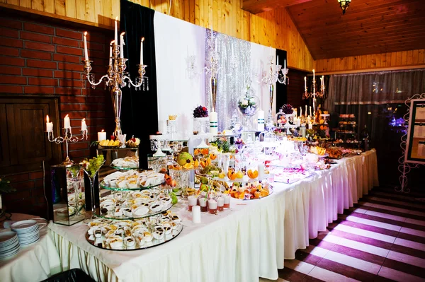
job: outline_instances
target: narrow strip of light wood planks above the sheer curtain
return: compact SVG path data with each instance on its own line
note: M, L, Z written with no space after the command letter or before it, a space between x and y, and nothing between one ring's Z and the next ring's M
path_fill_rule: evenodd
M424 52L425 49L416 49L355 57L319 59L314 61L314 69L316 69L317 73L321 73L424 66Z

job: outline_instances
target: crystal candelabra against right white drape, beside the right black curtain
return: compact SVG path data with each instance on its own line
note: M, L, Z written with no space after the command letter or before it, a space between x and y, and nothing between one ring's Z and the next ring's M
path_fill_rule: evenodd
M270 68L268 71L263 71L261 75L261 82L268 86L268 90L270 91L270 109L268 110L268 119L266 122L266 130L272 131L274 129L272 109L273 109L273 93L274 86L278 83L283 83L286 85L288 83L288 71L289 69L285 67L282 69L282 66L279 64L275 64L273 61L273 56L270 56L268 66Z

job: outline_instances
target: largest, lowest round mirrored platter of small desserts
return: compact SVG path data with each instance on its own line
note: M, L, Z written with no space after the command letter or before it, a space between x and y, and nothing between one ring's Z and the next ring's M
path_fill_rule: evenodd
M177 237L183 225L176 213L165 211L136 221L97 219L89 223L86 240L95 247L129 251L162 245Z

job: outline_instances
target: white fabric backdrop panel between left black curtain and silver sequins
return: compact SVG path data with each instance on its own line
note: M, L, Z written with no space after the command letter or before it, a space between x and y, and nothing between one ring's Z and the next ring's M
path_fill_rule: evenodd
M193 109L205 105L205 28L157 12L154 31L159 128L164 127L169 114L177 114L177 131L189 136ZM196 56L199 72L192 79L188 76L190 56Z

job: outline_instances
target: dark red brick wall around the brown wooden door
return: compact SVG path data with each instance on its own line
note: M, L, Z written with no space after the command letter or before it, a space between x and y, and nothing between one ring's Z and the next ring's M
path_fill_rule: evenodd
M89 141L69 145L70 158L79 161L94 155L90 142L111 123L106 112L112 112L112 105L103 87L96 90L81 87L86 29L73 25L0 14L0 93L60 95L60 121L54 122L63 124L64 116L69 114L71 126L77 130L81 119L86 118ZM92 66L97 78L106 73L108 42L112 36L109 31L89 30L89 57L94 60ZM42 170L8 176L18 189L4 196L8 210L46 217L42 177ZM46 184L50 187L50 182Z

